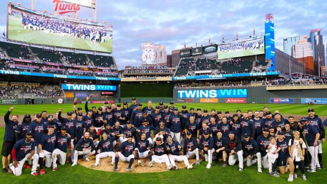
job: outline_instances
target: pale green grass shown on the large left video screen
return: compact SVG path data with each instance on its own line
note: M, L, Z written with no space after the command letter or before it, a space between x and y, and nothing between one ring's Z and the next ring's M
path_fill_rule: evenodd
M60 36L38 30L28 30L21 27L21 18L9 15L8 39L25 41L36 44L54 45L63 48L76 48L81 50L112 53L112 39L104 43L93 43L81 38Z

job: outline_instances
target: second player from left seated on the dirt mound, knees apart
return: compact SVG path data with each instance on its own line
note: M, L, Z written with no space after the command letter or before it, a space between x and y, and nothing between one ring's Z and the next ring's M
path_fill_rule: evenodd
M127 172L132 171L132 164L134 162L133 150L135 149L135 144L133 141L133 135L129 135L127 137L127 141L121 143L116 151L114 157L114 169L113 171L118 171L118 161L122 160L122 162L129 162ZM121 152L120 152L121 151Z

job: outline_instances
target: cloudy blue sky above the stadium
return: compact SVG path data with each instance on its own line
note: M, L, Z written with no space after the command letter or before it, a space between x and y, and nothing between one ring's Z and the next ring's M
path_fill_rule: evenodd
M36 1L36 10L53 12L51 0ZM0 30L6 29L6 6L0 1ZM30 0L12 0L30 7ZM283 38L308 35L322 29L327 36L327 1L105 1L98 0L98 21L113 24L113 56L120 68L139 65L141 41L165 44L167 53L183 47L250 35L264 31L265 14L271 12L275 22L276 47L283 50ZM80 18L92 18L82 8ZM326 44L327 37L324 38Z

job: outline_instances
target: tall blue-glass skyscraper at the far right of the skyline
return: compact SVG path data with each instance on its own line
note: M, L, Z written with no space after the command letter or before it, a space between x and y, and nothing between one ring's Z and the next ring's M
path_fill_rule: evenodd
M322 35L320 35L321 29L314 29L310 32L310 38L308 41L311 42L313 59L315 62L320 61L320 66L325 65L325 46L323 44Z

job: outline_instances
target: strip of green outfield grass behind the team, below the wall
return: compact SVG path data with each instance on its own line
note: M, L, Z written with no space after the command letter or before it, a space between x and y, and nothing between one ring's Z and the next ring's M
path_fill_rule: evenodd
M147 103L143 103L145 107ZM155 107L158 103L153 103L152 106ZM169 105L165 103L165 105ZM268 106L270 111L279 110L282 114L308 114L308 108L314 108L316 114L321 116L327 115L326 105L304 105L304 104L226 104L226 103L175 103L175 106L179 109L182 105L186 105L188 109L191 107L203 109L215 109L226 111L229 110L230 113L235 113L238 109L243 111L247 110L262 110L264 106ZM64 112L71 111L73 109L73 104L37 104L37 105L0 105L0 114L5 114L7 110L15 106L13 113L15 114L36 114L40 113L42 110L47 110L48 113L55 113L59 108L63 108ZM100 107L102 104L88 104L89 109L92 106ZM84 111L84 104L78 104L77 107L82 107Z

